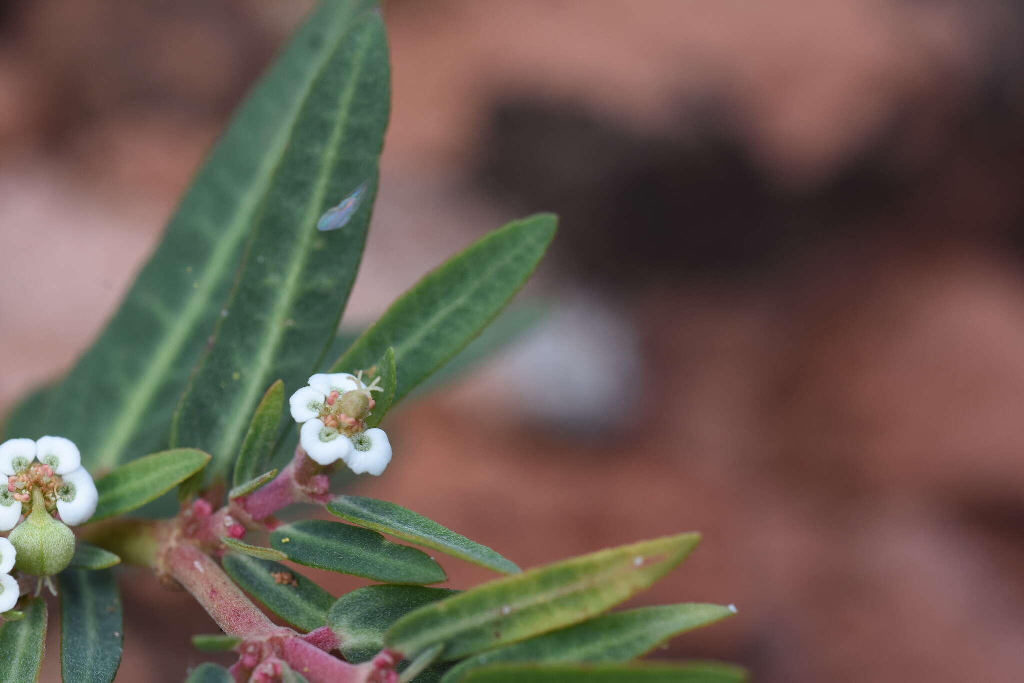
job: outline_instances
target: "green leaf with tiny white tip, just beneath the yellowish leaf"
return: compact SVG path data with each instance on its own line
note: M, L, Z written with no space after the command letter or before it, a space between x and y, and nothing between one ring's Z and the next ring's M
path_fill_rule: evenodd
M462 681L470 670L500 663L630 661L650 652L673 636L714 624L734 613L722 605L686 603L602 614L566 629L472 656L449 672L444 683Z

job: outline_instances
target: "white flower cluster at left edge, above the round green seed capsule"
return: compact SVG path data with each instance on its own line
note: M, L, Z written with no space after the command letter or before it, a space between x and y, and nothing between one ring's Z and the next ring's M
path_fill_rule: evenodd
M0 531L17 525L22 504L32 503L34 490L47 508L56 507L66 524L83 524L96 511L96 484L82 467L78 446L62 436L0 443L0 474L7 477L6 488L0 487Z

